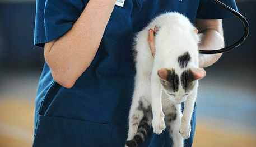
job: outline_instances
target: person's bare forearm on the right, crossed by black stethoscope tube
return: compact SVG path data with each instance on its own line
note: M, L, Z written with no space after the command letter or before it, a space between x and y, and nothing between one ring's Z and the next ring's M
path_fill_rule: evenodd
M196 19L196 26L201 33L200 50L215 50L224 47L224 37L221 19ZM222 53L206 55L199 54L199 67L213 65Z

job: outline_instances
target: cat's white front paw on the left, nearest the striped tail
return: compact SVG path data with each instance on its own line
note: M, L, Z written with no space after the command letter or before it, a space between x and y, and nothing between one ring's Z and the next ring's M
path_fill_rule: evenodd
M161 134L165 130L164 113L161 112L159 115L153 116L152 120L153 132Z

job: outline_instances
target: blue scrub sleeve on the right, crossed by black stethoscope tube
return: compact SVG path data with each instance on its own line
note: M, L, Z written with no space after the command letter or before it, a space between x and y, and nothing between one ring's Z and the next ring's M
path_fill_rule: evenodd
M227 6L238 11L235 0L219 0L220 2L226 4ZM197 18L201 19L223 19L234 17L233 14L221 8L217 4L211 2L210 0L200 0Z

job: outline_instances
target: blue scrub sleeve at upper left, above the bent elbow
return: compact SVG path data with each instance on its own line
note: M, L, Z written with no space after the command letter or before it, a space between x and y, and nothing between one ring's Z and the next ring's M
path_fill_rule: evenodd
M85 3L73 0L36 1L34 45L44 47L71 29L80 17Z

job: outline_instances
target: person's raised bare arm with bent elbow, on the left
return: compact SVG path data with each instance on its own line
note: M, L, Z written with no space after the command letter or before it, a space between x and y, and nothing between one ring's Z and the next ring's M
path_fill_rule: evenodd
M115 0L91 0L65 35L48 50L45 60L53 78L65 87L72 87L94 59L101 38L113 11Z

